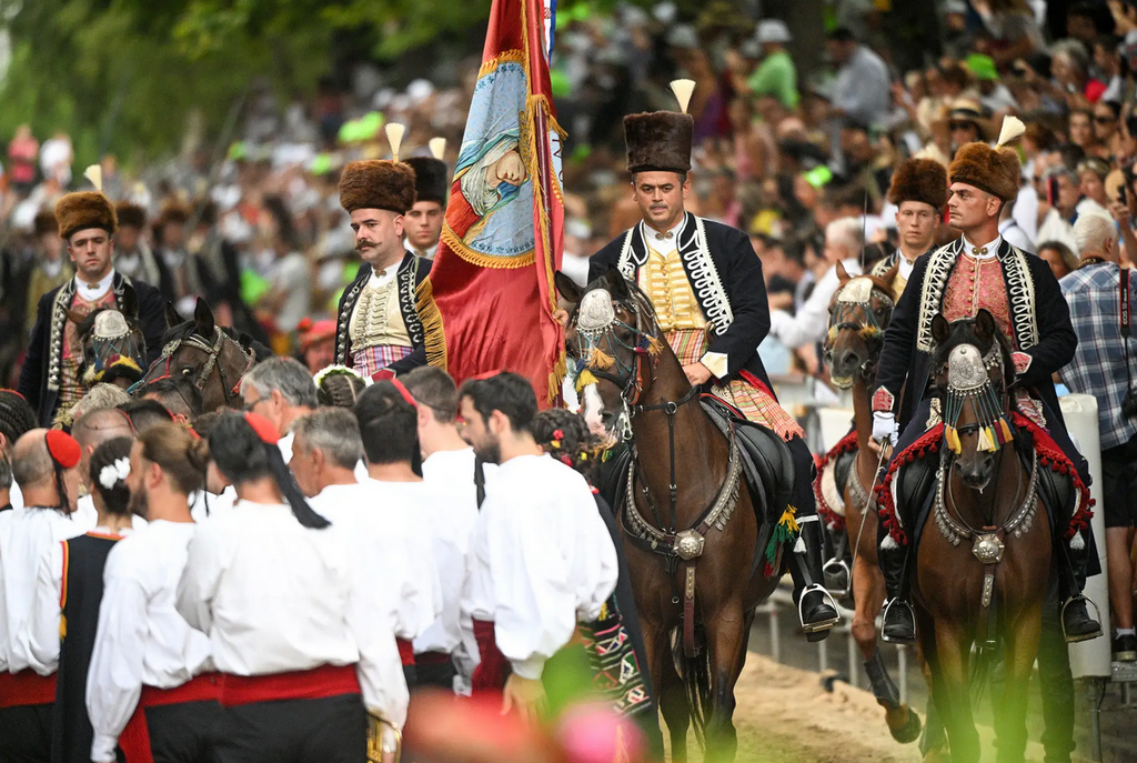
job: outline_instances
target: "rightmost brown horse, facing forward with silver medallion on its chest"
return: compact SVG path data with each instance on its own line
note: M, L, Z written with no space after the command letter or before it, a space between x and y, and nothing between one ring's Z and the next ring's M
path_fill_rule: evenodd
M1038 457L1024 442L1005 437L1014 366L990 313L981 309L952 324L937 315L932 335L932 373L946 428L932 511L923 520L916 555L920 642L952 760L970 762L979 760L971 690L981 687L977 681L1002 640L1004 695L993 702L998 760L1022 761L1027 689L1052 573ZM972 645L979 647L976 657Z

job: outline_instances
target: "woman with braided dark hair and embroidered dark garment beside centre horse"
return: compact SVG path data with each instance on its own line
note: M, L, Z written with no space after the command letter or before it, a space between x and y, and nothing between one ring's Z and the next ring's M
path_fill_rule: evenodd
M564 408L541 410L533 418L533 439L545 453L583 474L591 484L591 472L598 462L600 448L594 441L582 416ZM612 536L612 545L616 548L620 577L616 579L616 589L608 597L605 613L599 620L588 624L596 636L589 641L595 642L604 638L604 635L614 635L622 630L624 636L621 642L624 646L603 657L589 649L589 661L592 663L595 675L619 677L617 686L601 689L605 698L612 702L617 713L636 721L648 738L652 750L662 756L663 735L659 731L656 697L652 689L652 674L648 670L647 653L644 650L644 632L640 630L639 613L636 611L636 599L632 596L623 539L620 537L620 528L608 503L600 497L596 488L592 488L592 495L600 519ZM638 667L636 674L621 670L628 649L634 652Z

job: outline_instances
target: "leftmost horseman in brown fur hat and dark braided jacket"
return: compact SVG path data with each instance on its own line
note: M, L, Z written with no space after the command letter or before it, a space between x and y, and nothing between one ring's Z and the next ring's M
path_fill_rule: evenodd
M123 312L126 293L133 291L148 363L157 359L166 331L161 293L149 283L115 272L111 255L118 221L107 197L99 191L68 193L56 205L56 218L75 264L75 277L40 298L18 384L42 426L50 426L58 409L69 408L83 396L78 374L83 346L77 326L67 318L68 309L77 315L100 307Z

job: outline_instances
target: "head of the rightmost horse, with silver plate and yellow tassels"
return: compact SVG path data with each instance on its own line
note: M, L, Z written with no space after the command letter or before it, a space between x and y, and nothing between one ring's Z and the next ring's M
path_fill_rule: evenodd
M944 439L963 484L982 490L995 473L996 455L1012 440L1009 408L1015 372L1011 346L986 309L953 323L937 315L931 332L936 340L932 381Z

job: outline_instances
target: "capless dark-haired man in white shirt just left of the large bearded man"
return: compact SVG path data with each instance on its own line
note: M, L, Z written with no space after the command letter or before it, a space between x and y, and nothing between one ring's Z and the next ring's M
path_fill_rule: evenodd
M432 525L434 562L442 582L442 616L415 639L418 682L465 690L478 663L476 642L463 639L463 633L473 635L472 625L463 629L460 622L467 556L478 522L474 449L458 433L458 388L449 374L435 366L423 366L407 374L402 383L417 404L423 480L445 495L437 505L441 521ZM453 681L455 671L460 685Z

